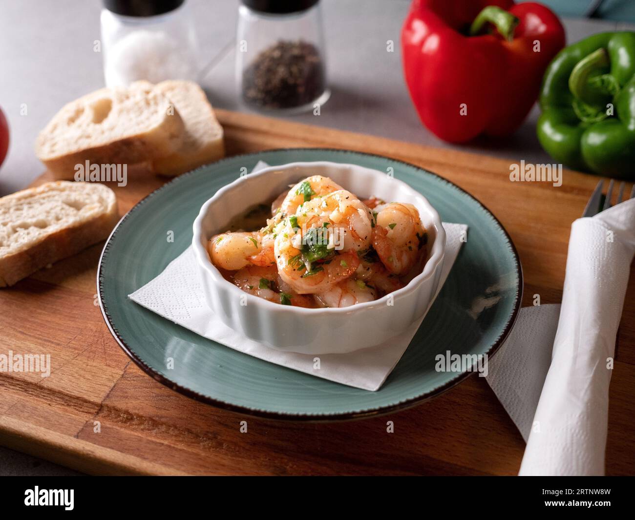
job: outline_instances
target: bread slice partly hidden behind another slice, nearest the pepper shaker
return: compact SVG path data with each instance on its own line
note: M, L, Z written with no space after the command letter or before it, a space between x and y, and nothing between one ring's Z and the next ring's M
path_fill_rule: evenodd
M225 155L223 127L201 87L192 81L169 80L157 83L154 91L174 103L185 123L180 149L152 161L155 173L179 175Z

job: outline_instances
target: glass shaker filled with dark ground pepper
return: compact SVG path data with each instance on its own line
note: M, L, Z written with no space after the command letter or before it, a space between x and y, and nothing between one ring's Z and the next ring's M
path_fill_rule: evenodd
M319 0L241 0L236 45L246 106L301 112L328 100Z

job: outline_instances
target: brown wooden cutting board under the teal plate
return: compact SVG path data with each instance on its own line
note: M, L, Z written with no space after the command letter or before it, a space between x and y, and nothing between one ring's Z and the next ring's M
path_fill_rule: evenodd
M570 225L598 178L561 187L509 181L510 161L218 110L227 154L332 147L396 157L480 199L518 247L523 305L558 303ZM522 159L522 157L518 157ZM134 174L134 175L133 175ZM36 183L49 180L44 174ZM129 171L119 211L164 179ZM630 186L629 186L630 189ZM110 336L95 299L103 244L0 290L0 353L51 354L48 378L0 373L0 444L92 474L506 474L525 443L483 378L389 416L340 423L246 418L148 377ZM629 281L610 389L608 474L635 472L635 276ZM240 422L248 431L241 433ZM387 433L386 422L394 422ZM1 462L0 462L1 467Z

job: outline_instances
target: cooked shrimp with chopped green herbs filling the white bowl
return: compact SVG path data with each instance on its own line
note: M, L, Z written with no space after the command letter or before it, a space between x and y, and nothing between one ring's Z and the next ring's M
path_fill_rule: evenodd
M360 199L320 175L243 217L210 238L210 260L244 292L282 305L371 302L402 288L427 258L415 206Z

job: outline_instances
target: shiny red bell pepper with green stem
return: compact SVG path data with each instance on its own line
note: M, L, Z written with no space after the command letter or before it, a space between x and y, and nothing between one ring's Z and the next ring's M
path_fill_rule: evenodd
M549 8L512 0L414 0L401 30L410 97L422 123L450 142L516 130L564 46Z

